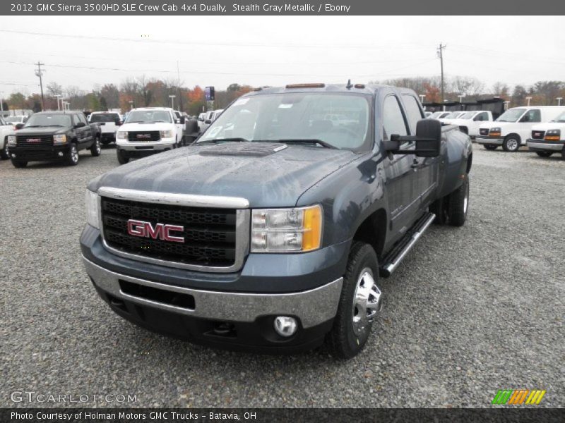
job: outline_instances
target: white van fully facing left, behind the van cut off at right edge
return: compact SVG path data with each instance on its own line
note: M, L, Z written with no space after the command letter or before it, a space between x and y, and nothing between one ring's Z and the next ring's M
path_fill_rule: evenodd
M533 125L549 122L565 111L565 106L513 107L492 123L481 125L476 140L486 149L502 146L505 152L516 152L526 145Z

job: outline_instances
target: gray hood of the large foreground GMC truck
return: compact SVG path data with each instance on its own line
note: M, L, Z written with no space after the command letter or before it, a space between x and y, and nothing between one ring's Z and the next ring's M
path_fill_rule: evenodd
M358 157L267 142L193 145L119 166L88 188L243 197L250 207L292 207L308 188Z

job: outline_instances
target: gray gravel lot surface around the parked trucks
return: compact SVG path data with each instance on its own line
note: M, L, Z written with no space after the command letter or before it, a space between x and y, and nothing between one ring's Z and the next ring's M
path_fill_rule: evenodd
M432 226L381 279L381 319L348 362L211 350L111 312L78 238L86 183L115 166L112 148L75 167L0 162L0 407L14 390L131 393L138 407L490 407L499 388L565 407L559 157L475 145L467 223Z

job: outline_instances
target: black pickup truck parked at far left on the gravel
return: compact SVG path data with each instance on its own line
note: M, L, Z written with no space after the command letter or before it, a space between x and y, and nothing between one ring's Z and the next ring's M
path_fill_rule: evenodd
M82 111L33 114L16 135L8 137L10 159L17 168L29 161L64 161L73 166L81 149L100 156L100 124L88 123Z

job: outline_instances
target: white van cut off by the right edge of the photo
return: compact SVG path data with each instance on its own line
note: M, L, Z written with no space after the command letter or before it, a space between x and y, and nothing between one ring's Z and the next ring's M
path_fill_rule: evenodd
M565 112L547 123L533 125L527 141L528 149L540 157L561 152L565 160Z

